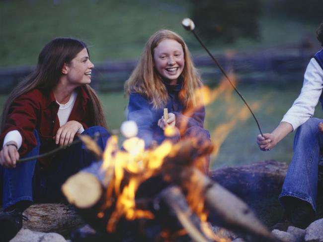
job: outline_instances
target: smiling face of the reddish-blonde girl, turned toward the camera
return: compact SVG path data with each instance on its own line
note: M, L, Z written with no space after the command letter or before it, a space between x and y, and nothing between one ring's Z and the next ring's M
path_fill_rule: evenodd
M177 84L177 79L184 69L184 52L175 40L164 39L154 49L154 65L170 85Z

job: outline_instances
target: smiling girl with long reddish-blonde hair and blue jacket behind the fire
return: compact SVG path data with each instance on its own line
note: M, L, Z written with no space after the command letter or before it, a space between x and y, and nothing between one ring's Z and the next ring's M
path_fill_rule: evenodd
M183 39L169 30L153 34L125 83L128 120L136 121L138 136L146 147L161 143L167 126L178 131L173 141L194 136L199 143L210 142L210 134L203 128L205 109L200 87L200 76ZM162 118L163 108L169 111L167 120ZM208 162L202 168L205 173Z

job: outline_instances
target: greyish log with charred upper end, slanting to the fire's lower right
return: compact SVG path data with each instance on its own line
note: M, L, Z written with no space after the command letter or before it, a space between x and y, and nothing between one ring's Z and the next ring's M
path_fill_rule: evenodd
M240 198L190 165L198 162L198 157L205 157L210 149L208 144L197 147L191 141L175 145L176 156L166 157L163 163L166 179L180 185L184 190L190 190L190 185L199 183L194 190L199 190L200 194L196 192L195 194L205 198L206 207L211 214L216 215L216 220L212 222L216 222L219 226L237 233L249 234L253 241L277 241ZM197 157L192 154L196 154ZM178 168L178 164L185 164L185 162L186 167ZM174 174L169 175L172 172ZM187 183L186 181L189 180L192 182Z

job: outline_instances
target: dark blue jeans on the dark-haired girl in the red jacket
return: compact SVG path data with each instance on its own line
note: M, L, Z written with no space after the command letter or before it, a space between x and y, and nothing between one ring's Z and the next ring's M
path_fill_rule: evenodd
M97 144L104 150L110 136L108 131L100 126L87 128L82 134L102 134ZM35 130L37 146L26 156L27 158L39 154L39 135ZM16 168L0 167L2 174L2 207L3 209L19 201L57 202L63 199L62 184L73 174L89 166L95 158L83 143L75 144L62 150L55 156L49 169L43 169L36 160L17 164Z

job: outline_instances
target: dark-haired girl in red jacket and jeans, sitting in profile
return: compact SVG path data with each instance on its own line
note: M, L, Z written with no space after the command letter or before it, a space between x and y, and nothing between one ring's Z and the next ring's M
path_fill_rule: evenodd
M65 180L89 166L94 158L82 144L50 157L16 164L58 146L68 146L77 134L100 132L108 138L101 103L93 89L85 43L73 38L50 41L36 69L9 94L1 121L0 177L2 207L0 234L10 240L21 228L22 212L32 201L62 199Z

